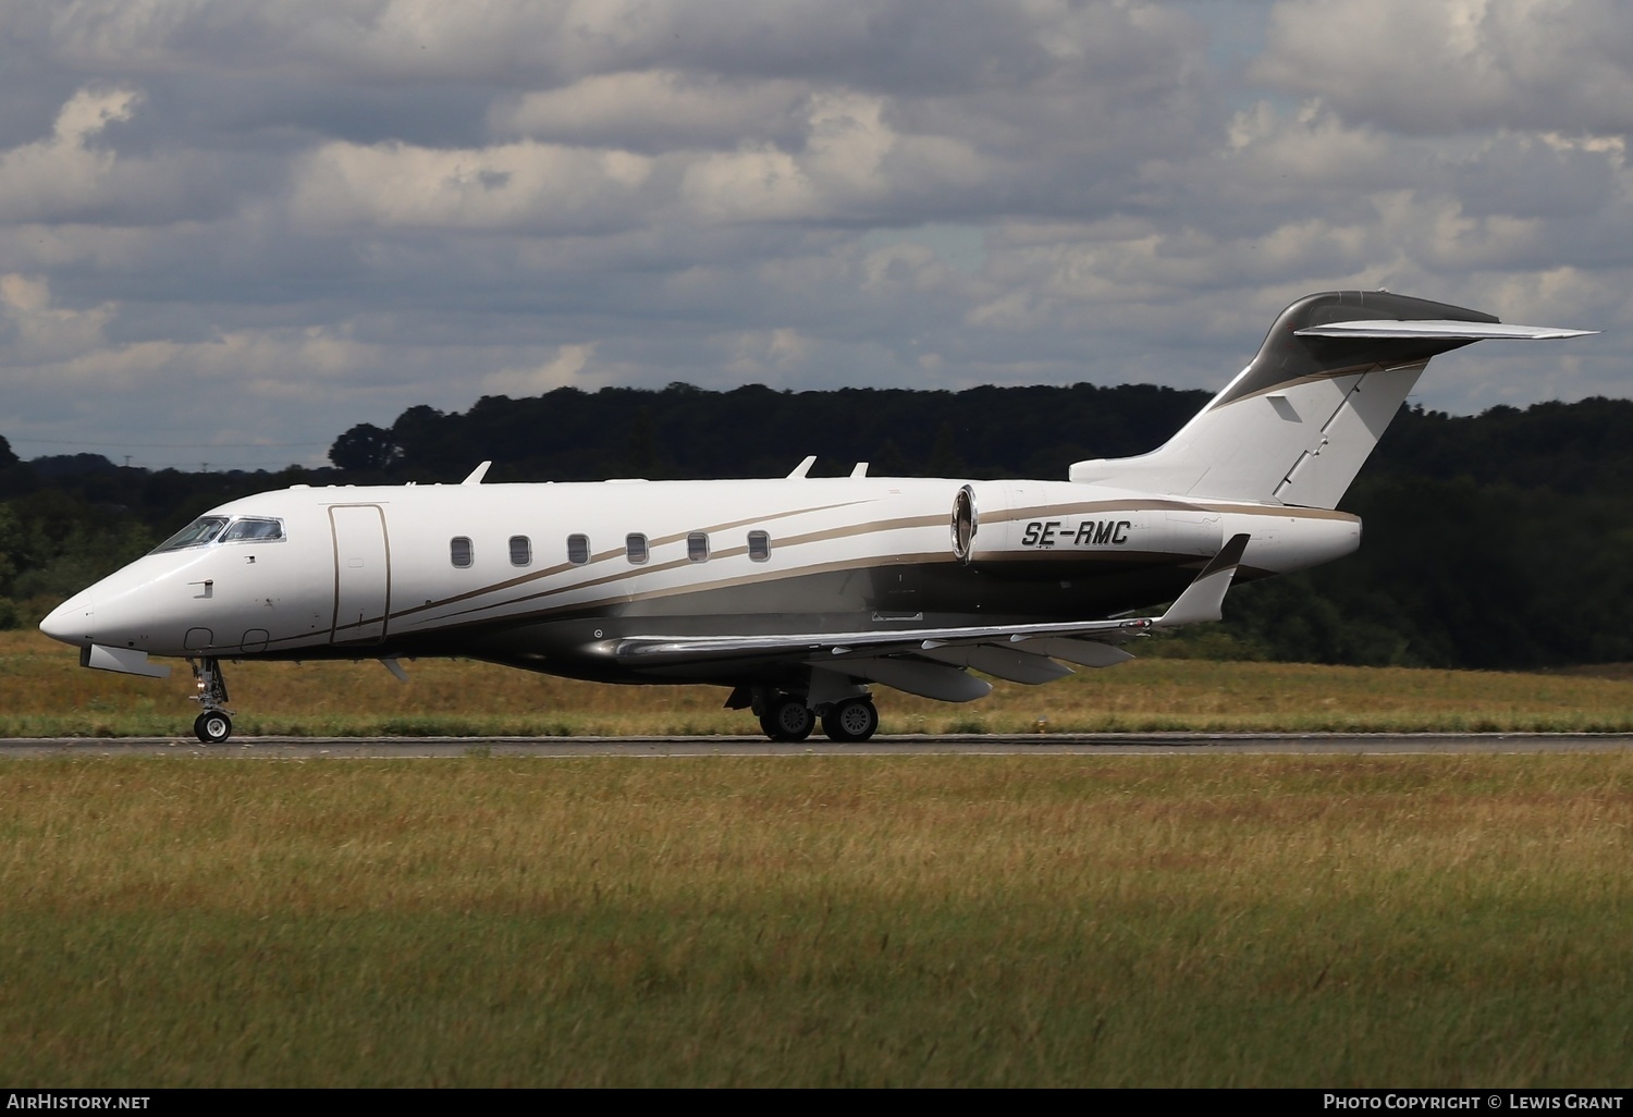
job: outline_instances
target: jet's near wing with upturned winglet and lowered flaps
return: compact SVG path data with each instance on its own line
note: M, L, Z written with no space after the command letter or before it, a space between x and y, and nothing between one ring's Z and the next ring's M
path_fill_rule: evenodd
M887 632L810 632L771 635L639 635L617 645L632 666L705 665L728 660L794 660L812 668L870 679L910 694L967 702L991 686L965 673L975 668L1014 683L1047 683L1071 668L1110 666L1133 658L1115 647L1153 629L1218 621L1248 536L1233 536L1159 617L1060 621L1045 624L893 629Z

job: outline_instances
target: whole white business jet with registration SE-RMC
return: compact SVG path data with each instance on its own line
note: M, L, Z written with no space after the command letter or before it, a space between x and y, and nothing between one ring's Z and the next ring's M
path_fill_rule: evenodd
M1047 683L1217 621L1236 580L1349 554L1334 511L1429 358L1504 325L1383 291L1300 299L1161 449L1070 480L807 477L296 485L199 516L39 625L80 663L186 656L202 741L222 660L469 656L604 683L709 683L779 741L879 727L869 684L947 702ZM547 436L542 433L542 436ZM1172 604L1153 616L1153 603Z

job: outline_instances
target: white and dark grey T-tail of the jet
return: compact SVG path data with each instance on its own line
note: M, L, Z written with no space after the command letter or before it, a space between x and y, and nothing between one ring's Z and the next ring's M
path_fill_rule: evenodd
M1386 291L1282 310L1259 354L1161 449L1076 462L1071 480L1172 496L1336 508L1429 359L1484 338L1594 330L1504 325Z

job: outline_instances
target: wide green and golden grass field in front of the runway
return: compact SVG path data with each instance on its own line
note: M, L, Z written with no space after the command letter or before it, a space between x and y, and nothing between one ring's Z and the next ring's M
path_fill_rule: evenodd
M1633 754L0 764L5 1086L1625 1086Z

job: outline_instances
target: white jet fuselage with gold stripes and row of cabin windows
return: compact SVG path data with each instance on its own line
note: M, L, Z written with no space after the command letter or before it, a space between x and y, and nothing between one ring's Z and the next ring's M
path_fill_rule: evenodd
M870 477L296 487L209 518L230 526L105 578L46 630L170 656L457 655L736 686L785 665L637 665L619 642L1106 617L1172 599L1238 532L1239 578L1360 541L1324 510ZM276 537L224 537L263 521Z

